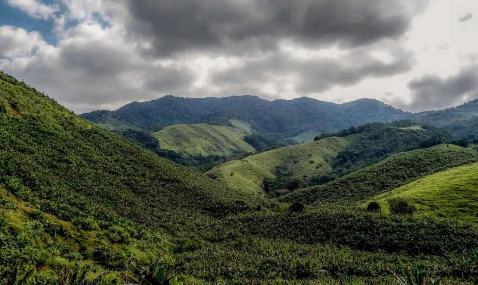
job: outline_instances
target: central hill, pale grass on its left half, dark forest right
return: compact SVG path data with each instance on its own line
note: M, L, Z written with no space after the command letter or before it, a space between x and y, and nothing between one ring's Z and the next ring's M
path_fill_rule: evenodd
M452 138L435 127L408 126L411 124L408 121L402 127L404 123L373 123L322 134L323 139L312 143L229 161L207 171L206 175L237 190L265 192L274 198L297 188L324 184L393 153L436 145L440 143L438 139Z

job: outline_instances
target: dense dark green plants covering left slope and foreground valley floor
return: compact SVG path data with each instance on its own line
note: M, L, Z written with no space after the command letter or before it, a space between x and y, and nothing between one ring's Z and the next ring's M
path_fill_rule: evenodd
M241 195L0 73L2 285L478 282L472 224L303 206Z

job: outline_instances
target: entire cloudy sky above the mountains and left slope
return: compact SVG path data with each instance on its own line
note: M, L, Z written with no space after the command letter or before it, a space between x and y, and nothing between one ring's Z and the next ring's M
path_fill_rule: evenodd
M478 98L478 0L0 0L0 69L76 113L164 95Z

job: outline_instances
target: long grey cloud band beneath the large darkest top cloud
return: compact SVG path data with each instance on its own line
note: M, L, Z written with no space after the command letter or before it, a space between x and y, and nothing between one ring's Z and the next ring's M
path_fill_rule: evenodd
M351 52L341 59L298 59L273 53L214 74L213 85L230 92L240 89L241 85L262 86L267 82L281 85L285 78L292 76L298 80L295 84L297 94L321 93L334 85L349 86L367 77L390 76L411 69L413 57L409 53L396 50L392 57L391 63L384 63L364 50Z

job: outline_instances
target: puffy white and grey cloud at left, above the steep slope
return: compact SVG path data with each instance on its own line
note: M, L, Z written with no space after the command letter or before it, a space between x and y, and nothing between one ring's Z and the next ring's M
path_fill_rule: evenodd
M81 24L74 33L96 37L76 36L52 46L36 32L0 26L0 52L5 54L0 69L77 112L177 94L192 81L183 66L143 59L133 45L99 24Z

